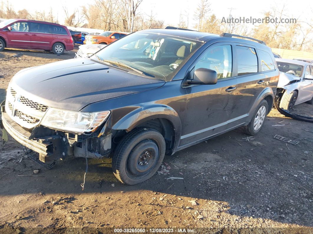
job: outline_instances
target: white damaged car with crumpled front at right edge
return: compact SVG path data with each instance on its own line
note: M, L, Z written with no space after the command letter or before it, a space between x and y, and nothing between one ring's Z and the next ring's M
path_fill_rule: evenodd
M276 58L280 71L277 93L279 107L290 110L302 102L313 104L313 65L308 62Z

